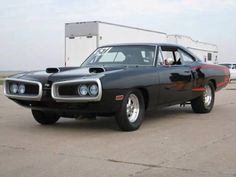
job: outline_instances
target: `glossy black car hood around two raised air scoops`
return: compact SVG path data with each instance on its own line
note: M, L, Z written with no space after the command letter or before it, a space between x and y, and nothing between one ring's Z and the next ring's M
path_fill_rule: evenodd
M100 78L106 74L119 72L126 69L122 67L61 67L61 68L47 68L41 71L30 71L18 73L10 76L10 78L25 79L32 81L58 82L64 80L73 80L78 78Z

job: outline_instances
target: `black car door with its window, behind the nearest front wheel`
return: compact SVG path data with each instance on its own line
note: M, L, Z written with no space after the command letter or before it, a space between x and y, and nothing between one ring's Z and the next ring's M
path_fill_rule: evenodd
M173 46L162 46L163 65L158 66L160 80L160 104L181 103L192 96L192 73L183 61L182 51ZM167 63L168 57L174 62Z

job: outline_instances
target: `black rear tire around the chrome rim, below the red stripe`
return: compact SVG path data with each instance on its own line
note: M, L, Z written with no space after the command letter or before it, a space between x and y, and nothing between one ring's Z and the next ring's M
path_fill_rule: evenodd
M207 98L205 97L206 91L202 92L202 95L198 98L191 100L191 106L196 113L209 113L211 112L215 102L215 87L212 82L205 85L205 89L210 88L211 100L206 103Z

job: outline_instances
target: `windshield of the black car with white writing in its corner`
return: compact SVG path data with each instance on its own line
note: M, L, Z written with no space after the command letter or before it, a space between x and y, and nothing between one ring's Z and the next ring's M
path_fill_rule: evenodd
M98 48L82 66L89 65L153 65L155 46L132 45Z

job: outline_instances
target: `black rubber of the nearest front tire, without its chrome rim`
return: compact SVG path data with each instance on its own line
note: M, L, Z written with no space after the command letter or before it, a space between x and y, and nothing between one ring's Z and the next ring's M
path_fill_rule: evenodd
M127 113L128 110L132 110L132 109L127 108L127 106L128 106L127 104L128 104L130 96L135 99L137 98L138 105L139 105L139 111L135 111L135 108L134 109L132 108L133 112L135 112L134 114L136 114L135 119L133 119L133 121L131 121L132 116L128 116L128 113ZM137 130L141 126L142 121L144 119L144 113L145 113L145 103L144 103L143 95L139 90L133 89L133 90L130 90L125 95L124 100L122 102L121 110L116 113L116 121L117 121L121 130L134 131L134 130ZM133 113L131 111L130 115L132 115L132 114Z

